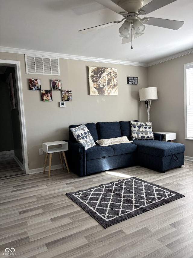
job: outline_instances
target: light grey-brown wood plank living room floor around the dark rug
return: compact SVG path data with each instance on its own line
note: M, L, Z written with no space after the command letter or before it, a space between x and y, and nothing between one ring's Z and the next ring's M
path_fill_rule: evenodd
M59 169L50 178L1 180L0 257L14 248L19 258L193 258L193 162L166 173L139 166L110 172L119 174L79 178ZM127 175L185 197L104 229L65 195Z

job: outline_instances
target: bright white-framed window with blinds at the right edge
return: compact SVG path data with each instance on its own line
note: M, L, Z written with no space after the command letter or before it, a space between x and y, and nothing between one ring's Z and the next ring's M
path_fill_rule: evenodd
M184 65L185 139L193 140L193 63Z

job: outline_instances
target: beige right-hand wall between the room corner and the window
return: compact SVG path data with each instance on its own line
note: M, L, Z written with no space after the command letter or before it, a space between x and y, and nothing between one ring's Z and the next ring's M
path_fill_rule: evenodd
M153 131L176 132L175 142L185 144L185 156L193 157L193 141L185 140L184 64L193 54L178 57L147 68L148 87L157 87L158 100L152 101L150 121Z

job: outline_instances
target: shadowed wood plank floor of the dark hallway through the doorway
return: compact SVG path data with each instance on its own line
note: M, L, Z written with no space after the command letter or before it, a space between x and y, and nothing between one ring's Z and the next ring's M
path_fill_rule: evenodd
M20 168L14 160L14 154L0 155L0 179L25 175L25 172Z

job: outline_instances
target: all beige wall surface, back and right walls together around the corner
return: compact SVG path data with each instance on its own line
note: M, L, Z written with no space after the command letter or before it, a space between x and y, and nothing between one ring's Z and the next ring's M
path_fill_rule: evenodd
M44 165L45 154L39 155L42 142L68 139L71 124L132 119L146 122L139 89L147 86L158 88L158 100L152 101L150 108L153 131L176 132L176 142L184 143L185 155L193 157L193 141L184 139L184 64L192 62L193 54L150 67L60 59L60 76L26 74L23 54L0 52L0 59L20 61L30 170ZM118 95L89 95L88 66L117 68ZM138 77L138 85L128 85L127 76ZM61 79L62 89L72 90L73 100L59 108L61 92L55 91L52 102L42 102L39 92L28 90L28 78L34 77L41 79L42 90L50 90L50 79ZM57 164L60 160L55 153L52 165Z

